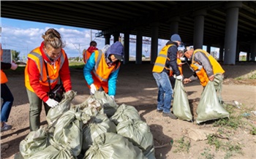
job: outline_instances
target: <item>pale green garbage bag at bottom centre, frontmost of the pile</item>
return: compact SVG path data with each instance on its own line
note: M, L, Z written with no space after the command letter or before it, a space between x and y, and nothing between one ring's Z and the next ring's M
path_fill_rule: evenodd
M86 151L83 159L143 159L143 152L124 136L116 133L102 133Z

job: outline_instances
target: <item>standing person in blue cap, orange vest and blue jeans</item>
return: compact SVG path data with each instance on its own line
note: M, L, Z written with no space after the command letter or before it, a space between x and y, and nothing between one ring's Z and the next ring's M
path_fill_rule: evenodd
M181 72L177 64L178 46L181 44L181 37L178 34L173 34L170 41L162 47L153 67L153 76L157 82L157 112L162 112L164 117L177 119L173 113L170 112L171 101L173 100L173 88L170 83L170 68L177 80L182 80Z

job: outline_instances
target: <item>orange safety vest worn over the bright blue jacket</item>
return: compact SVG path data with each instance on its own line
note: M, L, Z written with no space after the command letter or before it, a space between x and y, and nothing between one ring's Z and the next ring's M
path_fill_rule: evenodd
M108 66L105 61L105 55L102 50L95 50L95 66L92 72L92 78L94 79L94 85L97 90L102 87L105 93L108 93L108 77L113 71L116 71L121 65L120 62L113 66Z

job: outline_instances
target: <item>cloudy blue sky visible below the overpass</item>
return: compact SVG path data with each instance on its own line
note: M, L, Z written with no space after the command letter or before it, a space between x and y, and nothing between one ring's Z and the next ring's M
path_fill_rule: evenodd
M99 49L102 49L105 45L104 38L95 37L95 33L98 32L97 30L1 18L2 47L3 49L18 51L20 52L20 59L26 59L28 53L41 44L42 34L44 34L48 28L55 28L59 31L66 44L64 50L68 57L78 57L80 55L80 58L82 58L81 54L83 53L83 49L89 47L91 40L97 42L97 47ZM130 35L130 37L136 38L135 35ZM143 38L148 39L148 37ZM113 36L111 36L111 39L113 39ZM166 42L167 40L159 39L159 50ZM110 44L113 44L113 40L110 40ZM135 43L130 43L129 48L129 55L135 56ZM143 55L149 56L149 51L146 50L150 50L149 44L143 44Z

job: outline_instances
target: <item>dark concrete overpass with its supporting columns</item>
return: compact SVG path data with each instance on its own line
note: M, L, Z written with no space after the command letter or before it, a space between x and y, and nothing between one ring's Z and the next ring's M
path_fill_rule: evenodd
M255 61L256 1L1 1L1 17L97 29L106 44L110 35L116 41L124 33L124 63L129 34L137 36L136 63L141 63L142 36L151 37L154 63L157 39L174 33L195 48L220 47L225 64L235 64L240 51Z

